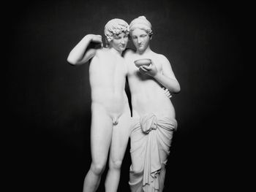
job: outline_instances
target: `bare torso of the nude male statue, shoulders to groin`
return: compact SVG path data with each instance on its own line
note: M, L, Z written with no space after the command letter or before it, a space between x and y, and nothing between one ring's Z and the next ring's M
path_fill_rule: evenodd
M127 68L121 55L108 49L97 50L89 66L91 109L101 106L113 120L129 110L124 91Z

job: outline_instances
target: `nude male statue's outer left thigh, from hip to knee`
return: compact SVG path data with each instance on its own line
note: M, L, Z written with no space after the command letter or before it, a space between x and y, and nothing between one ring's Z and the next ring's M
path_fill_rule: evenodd
M104 107L93 105L91 110L91 158L94 163L106 162L113 124Z

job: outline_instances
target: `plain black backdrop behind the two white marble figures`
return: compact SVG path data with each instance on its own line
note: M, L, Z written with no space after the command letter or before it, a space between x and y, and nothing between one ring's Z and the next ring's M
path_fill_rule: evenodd
M5 145L10 189L82 191L91 162L89 66L71 66L67 55L86 34L102 34L108 20L129 23L139 15L151 21L151 48L170 60L181 84L181 93L172 98L178 131L167 164L166 191L237 185L234 160L240 145L234 133L241 126L237 88L243 70L239 4L12 1L7 9L4 118L10 133ZM129 191L129 164L128 148L120 191Z

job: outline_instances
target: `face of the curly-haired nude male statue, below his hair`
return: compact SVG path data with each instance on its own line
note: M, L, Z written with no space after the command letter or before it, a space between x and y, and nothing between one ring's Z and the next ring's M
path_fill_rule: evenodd
M113 40L110 42L110 45L118 52L122 52L127 47L127 43L128 34L124 34L124 32L121 32L121 34L113 35Z

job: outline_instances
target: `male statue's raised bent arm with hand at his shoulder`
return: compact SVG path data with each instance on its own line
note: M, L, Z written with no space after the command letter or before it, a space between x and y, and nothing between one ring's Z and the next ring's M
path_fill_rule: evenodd
M89 45L91 43L96 43L96 45L103 47L102 36L88 34L83 37L83 39L78 42L78 45L75 45L75 47L70 51L69 56L67 57L67 62L72 65L80 65L89 61L94 57L97 47L90 47Z

